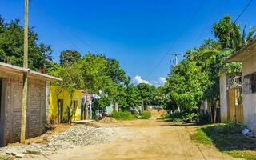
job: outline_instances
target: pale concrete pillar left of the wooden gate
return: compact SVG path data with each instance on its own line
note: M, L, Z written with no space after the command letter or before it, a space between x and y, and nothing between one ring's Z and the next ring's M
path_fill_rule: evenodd
M221 107L221 122L227 122L228 114L228 99L227 99L227 84L226 74L223 73L219 77L220 86L220 107Z

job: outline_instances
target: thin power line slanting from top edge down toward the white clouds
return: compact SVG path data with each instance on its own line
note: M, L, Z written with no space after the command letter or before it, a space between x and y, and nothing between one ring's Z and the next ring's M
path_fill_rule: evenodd
M198 9L194 12L194 14L192 15L192 17L190 18L190 20L186 23L186 26L184 26L183 30L186 30L187 27L190 25L190 23L192 22L192 20L194 19L194 17L198 14L199 10L201 10L203 4L204 4L205 0L202 0L200 6L198 6ZM156 66L154 66L153 70L150 71L150 73L146 76L146 78L149 78L151 74L154 73L154 70L156 70L158 68L158 66L161 64L161 62L166 58L166 55L169 54L170 50L173 48L173 46L178 42L179 38L181 36L179 36L171 45L170 48L167 50L167 52L163 55L163 57L160 59L160 61L157 63Z

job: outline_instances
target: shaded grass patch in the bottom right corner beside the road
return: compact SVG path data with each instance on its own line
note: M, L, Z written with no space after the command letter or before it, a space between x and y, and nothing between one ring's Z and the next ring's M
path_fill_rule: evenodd
M242 134L244 126L234 123L212 124L199 127L191 135L194 142L214 145L234 158L256 159L256 139Z

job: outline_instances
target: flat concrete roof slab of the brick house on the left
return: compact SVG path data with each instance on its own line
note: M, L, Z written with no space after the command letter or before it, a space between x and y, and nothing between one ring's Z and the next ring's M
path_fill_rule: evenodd
M48 74L42 74L27 68L10 65L4 62L0 62L0 70L16 74L28 74L29 77L39 78L45 81L63 81L62 78L57 78Z

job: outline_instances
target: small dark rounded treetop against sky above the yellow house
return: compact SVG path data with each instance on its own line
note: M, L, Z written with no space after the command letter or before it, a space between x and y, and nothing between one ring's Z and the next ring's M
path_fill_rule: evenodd
M59 58L62 66L68 66L77 62L81 58L81 54L76 50L64 50Z

